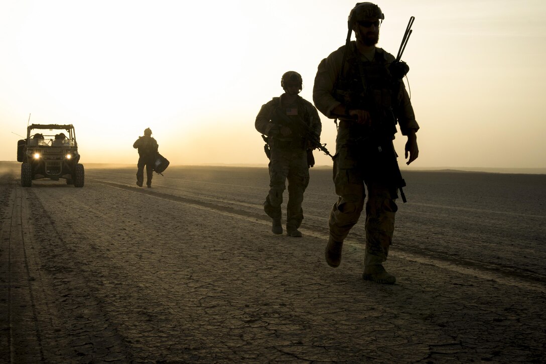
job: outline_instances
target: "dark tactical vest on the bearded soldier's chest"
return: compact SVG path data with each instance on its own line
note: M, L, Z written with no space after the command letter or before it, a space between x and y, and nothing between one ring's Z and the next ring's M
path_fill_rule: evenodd
M349 109L368 111L375 130L396 133L393 105L399 82L388 71L384 53L376 51L372 61L363 62L354 43L349 44L346 52L334 97Z

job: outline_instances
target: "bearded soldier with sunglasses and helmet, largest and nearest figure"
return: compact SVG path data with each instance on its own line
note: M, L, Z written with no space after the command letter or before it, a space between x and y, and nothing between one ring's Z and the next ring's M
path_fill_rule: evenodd
M331 267L340 265L343 240L364 208L366 185L363 278L393 284L396 279L385 271L383 262L393 238L397 189L405 184L392 140L398 122L408 138L405 156L410 156L409 165L418 157L419 126L402 81L409 68L376 47L383 19L381 9L369 2L357 3L351 10L346 45L318 66L313 102L328 118L340 120L334 157L339 199L330 212L325 259ZM352 31L356 41L351 41Z

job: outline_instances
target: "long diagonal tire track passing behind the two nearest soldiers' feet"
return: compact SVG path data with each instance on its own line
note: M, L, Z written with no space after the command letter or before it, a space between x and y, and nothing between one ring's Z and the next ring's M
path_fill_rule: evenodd
M186 193L187 197L182 196L175 196L175 195L169 195L168 193L162 193L157 192L153 190L140 190L136 189L135 187L120 184L120 183L113 183L109 181L104 180L95 180L97 183L107 185L110 187L115 187L118 189L131 191L134 193L145 193L146 195L167 199L169 201L177 201L182 202L185 204L188 204L190 206L193 206L195 208L201 208L201 209L207 209L207 210L215 210L218 213L229 215L229 216L237 216L239 218L242 218L244 220L252 221L252 222L259 222L263 225L270 225L269 218L265 216L265 214L262 214L261 212L253 214L253 213L247 213L232 207L224 206L224 204L235 204L238 205L240 203L234 202L234 201L228 201L221 198L214 198L214 197L206 197L206 199L210 202L204 202L200 199L196 198L197 195L193 195L192 193ZM199 198L203 198L203 196L198 196ZM255 207L259 208L257 205L249 205L245 204L245 206ZM318 239L323 239L324 241L328 240L328 231L316 231L316 230L309 230L307 228L300 228L302 233L305 233L307 236L312 236ZM364 245L361 243L365 240L365 237L358 236L358 234L353 234L352 238L349 238L346 240L346 245L353 246L355 249L364 249ZM397 256L405 260L410 260L426 265L434 265L439 268L446 269L448 271L458 272L466 275L472 275L476 276L482 279L486 280L495 280L498 283L506 284L506 285L513 285L513 286L520 286L520 287L527 287L528 289L531 289L533 291L539 291L539 292L546 292L546 276L541 275L536 272L525 272L521 270L516 270L515 267L507 267L505 265L495 265L495 264L483 264L478 262L472 262L468 260L461 261L460 259L450 259L448 256L444 256L443 259L438 259L438 257L434 253L427 253L425 251L420 250L410 250L410 249L403 249L398 246L396 251L392 251L391 256Z

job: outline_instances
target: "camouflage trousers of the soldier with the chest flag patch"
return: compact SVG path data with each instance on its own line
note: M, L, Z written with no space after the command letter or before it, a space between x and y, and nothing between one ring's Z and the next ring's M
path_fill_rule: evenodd
M300 227L304 219L301 204L309 184L307 152L303 149L271 148L269 162L269 193L265 197L264 211L273 219L281 219L282 195L288 180L288 203L286 207L286 228Z

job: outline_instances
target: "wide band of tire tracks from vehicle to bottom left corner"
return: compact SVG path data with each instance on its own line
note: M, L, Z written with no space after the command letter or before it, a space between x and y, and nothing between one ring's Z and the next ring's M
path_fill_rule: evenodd
M29 363L130 359L36 191L13 179L5 191L0 273L7 298L0 304L9 330L0 333L8 343L0 356Z

